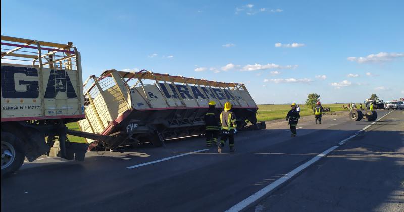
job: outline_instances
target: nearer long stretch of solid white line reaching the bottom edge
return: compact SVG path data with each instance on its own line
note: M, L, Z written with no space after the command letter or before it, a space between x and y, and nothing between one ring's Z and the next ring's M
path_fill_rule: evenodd
M333 146L327 150L325 150L323 153L313 157L310 161L300 165L299 167L297 167L296 169L290 171L289 173L287 173L286 175L282 176L281 178L279 178L278 180L276 180L275 182L267 185L266 187L264 187L263 189L257 191L255 194L252 194L251 196L249 196L248 198L244 199L243 201L241 201L240 203L234 205L233 207L231 207L230 209L228 209L227 211L240 211L244 208L246 208L248 205L252 204L253 202L257 201L258 199L260 199L261 197L263 197L265 194L267 194L268 192L272 191L274 188L278 187L279 185L281 185L282 183L286 182L287 180L289 180L291 177L293 177L294 175L296 175L297 173L299 173L300 171L306 169L308 166L312 165L313 163L315 163L316 161L320 160L320 158L326 156L328 153L330 153L331 151L335 150L336 148L338 148L338 146Z

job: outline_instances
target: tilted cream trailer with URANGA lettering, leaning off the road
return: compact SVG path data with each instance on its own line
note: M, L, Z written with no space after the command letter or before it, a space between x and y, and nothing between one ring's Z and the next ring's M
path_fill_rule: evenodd
M119 135L108 142L87 139L106 149L204 133L209 101L217 110L229 101L242 129L262 129L258 107L244 84L171 76L142 70L108 70L84 82L86 119L78 121L83 132Z

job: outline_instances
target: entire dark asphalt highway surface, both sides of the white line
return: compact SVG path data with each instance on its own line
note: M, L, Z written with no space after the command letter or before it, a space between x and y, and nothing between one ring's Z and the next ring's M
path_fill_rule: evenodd
M387 113L378 111L379 118ZM2 211L225 211L331 147L243 208L403 211L404 111L358 133L369 124L346 113L325 116L321 125L305 117L292 138L287 122L271 121L265 130L238 133L236 153L226 146L218 154L193 137L168 141L166 148L89 152L85 162L45 158L2 179Z

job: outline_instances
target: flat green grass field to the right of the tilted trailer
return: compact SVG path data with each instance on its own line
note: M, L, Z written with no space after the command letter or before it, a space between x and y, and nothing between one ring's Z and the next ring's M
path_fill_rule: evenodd
M343 104L322 104L325 108L331 108L331 112L336 111L347 111L347 109L342 109ZM359 104L357 104L359 105ZM290 105L258 105L258 121L270 121L276 119L285 119L287 112L291 109ZM313 115L313 110L307 108L306 105L300 104L300 116L310 116Z

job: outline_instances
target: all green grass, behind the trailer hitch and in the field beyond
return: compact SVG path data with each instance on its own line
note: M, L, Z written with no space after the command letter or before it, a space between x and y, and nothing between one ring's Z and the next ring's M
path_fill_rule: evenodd
M357 104L359 105L359 104ZM323 107L331 108L331 112L344 111L342 104L323 104ZM275 119L286 118L287 112L290 110L290 105L258 105L258 121L270 121ZM305 105L300 105L300 116L313 115L312 109L307 108ZM346 110L347 111L347 110ZM70 130L80 130L76 122L68 123L66 125ZM68 138L72 142L86 143L84 138L68 135Z

